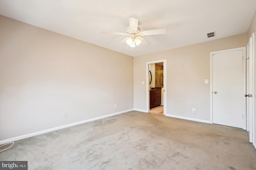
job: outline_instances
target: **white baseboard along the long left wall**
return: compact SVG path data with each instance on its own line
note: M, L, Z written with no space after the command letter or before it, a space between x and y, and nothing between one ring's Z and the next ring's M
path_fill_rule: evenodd
M102 119L102 118L105 118L105 117L110 117L110 116L118 115L118 114L125 113L125 112L128 112L128 111L133 111L133 110L134 109L120 111L120 112L117 112L117 113L112 113L112 114L109 114L109 115L95 117L95 118L92 118L92 119L87 119L87 120L79 121L79 122L76 122L76 123L70 123L68 125L62 125L62 126L59 126L59 127L54 127L54 128L50 128L50 129L46 129L46 130L42 130L42 131L38 131L38 132L28 133L26 135L21 135L21 136L18 136L18 137L12 137L12 138L9 138L9 139L4 139L4 140L0 141L0 145L5 144L5 143L9 143L9 142L12 142L12 141L18 141L20 139L25 139L25 138L28 138L28 137L42 135L44 133L48 133L48 132L64 129L66 127L71 127L71 126L79 125L79 124L82 124L82 123L86 123L86 122Z

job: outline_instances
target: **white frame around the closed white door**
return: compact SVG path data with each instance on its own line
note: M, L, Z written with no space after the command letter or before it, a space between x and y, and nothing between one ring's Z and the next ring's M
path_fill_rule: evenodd
M222 50L222 51L214 51L210 52L210 123L213 123L213 106L212 106L212 98L213 98L213 85L212 85L212 59L214 54L218 53L227 53L231 51L238 51L242 50L243 53L243 91L244 94L246 93L246 47L239 47L239 48L234 48L234 49L228 49L228 50ZM244 107L244 123L243 123L243 128L246 130L246 99L244 99L243 102L243 107Z

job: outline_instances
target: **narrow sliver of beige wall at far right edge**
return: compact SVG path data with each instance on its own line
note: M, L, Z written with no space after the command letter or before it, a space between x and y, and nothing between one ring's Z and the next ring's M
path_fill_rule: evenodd
M254 95L256 96L256 11L254 12L254 16L252 18L252 22L248 29L248 39L251 37L252 33L254 33ZM254 147L256 148L256 99L254 99Z

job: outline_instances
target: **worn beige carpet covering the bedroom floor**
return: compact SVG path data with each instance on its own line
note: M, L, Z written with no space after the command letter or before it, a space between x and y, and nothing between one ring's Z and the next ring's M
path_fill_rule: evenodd
M255 170L243 129L130 111L16 141L29 170Z

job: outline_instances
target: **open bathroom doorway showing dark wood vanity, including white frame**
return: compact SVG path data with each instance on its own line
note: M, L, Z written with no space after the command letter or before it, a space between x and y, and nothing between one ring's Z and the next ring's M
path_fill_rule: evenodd
M166 110L166 60L146 63L147 112L165 115Z

